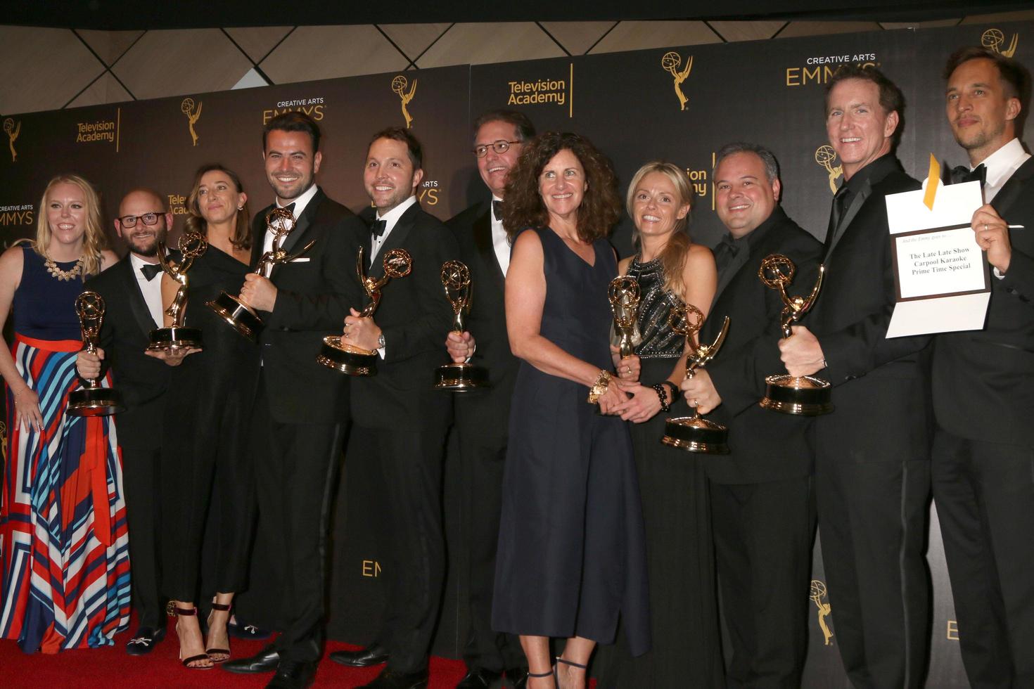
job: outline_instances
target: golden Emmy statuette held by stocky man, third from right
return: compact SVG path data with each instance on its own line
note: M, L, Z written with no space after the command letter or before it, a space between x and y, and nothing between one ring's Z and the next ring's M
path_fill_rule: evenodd
M729 316L726 316L722 323L722 332L714 338L714 342L709 345L695 344L693 336L700 331L703 322L704 314L692 304L680 304L672 307L668 314L668 325L686 338L686 346L690 349L690 355L686 359L687 378L692 378L694 371L702 369L707 362L714 358L714 354L725 342L725 336L729 333ZM664 422L664 437L661 438L661 442L685 449L688 452L728 455L728 439L729 430L727 428L706 418L700 418L700 414L694 409L692 416L679 416L666 420Z

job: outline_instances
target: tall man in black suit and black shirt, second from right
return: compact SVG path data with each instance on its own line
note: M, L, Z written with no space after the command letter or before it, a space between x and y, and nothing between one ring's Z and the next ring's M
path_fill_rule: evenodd
M780 342L790 375L821 373L835 410L813 424L829 602L856 687L915 687L930 640L923 543L930 495L929 338L886 338L894 305L887 194L919 189L892 154L904 98L876 69L841 67L826 133L844 166L826 277Z

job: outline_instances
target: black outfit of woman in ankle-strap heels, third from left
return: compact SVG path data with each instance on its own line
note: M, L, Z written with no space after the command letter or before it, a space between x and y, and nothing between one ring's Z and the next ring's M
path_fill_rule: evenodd
M188 271L185 325L200 327L204 351L173 369L166 394L161 475L162 588L177 600L196 600L203 539L215 539L217 592L244 588L254 516L247 429L258 379L258 347L205 303L237 294L248 267L209 246ZM212 528L206 532L209 509ZM206 581L207 577L206 577Z

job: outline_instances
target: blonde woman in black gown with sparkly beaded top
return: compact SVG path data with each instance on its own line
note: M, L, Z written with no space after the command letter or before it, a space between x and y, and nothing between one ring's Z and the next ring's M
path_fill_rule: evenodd
M686 231L691 198L686 173L671 163L647 163L629 184L637 253L618 271L639 282L642 339L635 354L618 363L621 389L632 397L616 410L632 421L653 646L638 658L621 645L609 650L600 675L606 687L724 686L704 466L661 443L665 420L690 413L678 394L686 338L668 325L668 314L685 303L706 315L717 282L711 252L692 244Z

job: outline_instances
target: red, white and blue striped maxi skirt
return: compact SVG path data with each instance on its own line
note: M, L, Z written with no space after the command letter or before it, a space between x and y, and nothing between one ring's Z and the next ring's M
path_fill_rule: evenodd
M80 386L75 340L14 337L11 352L39 396L42 432L19 428L7 395L0 502L0 638L26 653L114 644L129 626L129 535L111 416L65 414ZM110 385L110 380L102 382Z

